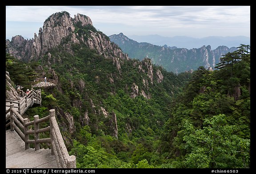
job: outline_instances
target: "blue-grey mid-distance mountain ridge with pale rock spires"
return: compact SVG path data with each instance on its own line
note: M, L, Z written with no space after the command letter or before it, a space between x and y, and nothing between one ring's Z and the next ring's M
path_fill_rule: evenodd
M109 38L130 58L139 60L150 58L155 65L162 66L173 73L197 70L199 66L204 66L205 69L214 68L220 62L222 55L237 50L236 47L228 48L227 46L218 46L212 50L210 45L193 49L156 46L151 43L138 43L123 33L111 35Z

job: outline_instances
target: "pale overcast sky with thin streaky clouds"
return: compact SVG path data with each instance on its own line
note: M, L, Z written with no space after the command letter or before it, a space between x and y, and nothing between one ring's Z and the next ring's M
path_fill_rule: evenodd
M45 19L66 11L91 18L105 35L247 36L250 6L6 6L6 39L38 35Z

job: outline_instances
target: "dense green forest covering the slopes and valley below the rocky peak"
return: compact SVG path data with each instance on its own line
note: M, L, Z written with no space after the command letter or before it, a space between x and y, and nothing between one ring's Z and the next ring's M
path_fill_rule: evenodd
M107 37L79 24L76 36L88 39L90 30ZM6 54L6 71L15 88L30 89L37 77L58 79L25 116L56 108L77 168L250 168L250 45L223 55L216 70L176 74L149 58L123 59L117 68L70 40L29 62ZM72 116L74 130L60 112Z

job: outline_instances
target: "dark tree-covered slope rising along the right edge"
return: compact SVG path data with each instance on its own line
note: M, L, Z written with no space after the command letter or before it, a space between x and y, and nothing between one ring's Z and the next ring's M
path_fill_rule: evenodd
M177 168L250 167L248 45L203 67L176 99L161 135L161 154Z

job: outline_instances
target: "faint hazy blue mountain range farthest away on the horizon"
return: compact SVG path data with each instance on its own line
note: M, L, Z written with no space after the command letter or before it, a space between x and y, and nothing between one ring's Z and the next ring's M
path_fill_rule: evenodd
M204 38L192 38L188 36L164 37L160 35L130 35L130 39L137 42L146 42L158 46L176 46L178 48L200 48L203 45L210 45L212 49L218 46L238 47L240 43L250 44L250 38L246 36L208 36Z

